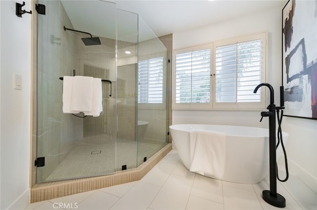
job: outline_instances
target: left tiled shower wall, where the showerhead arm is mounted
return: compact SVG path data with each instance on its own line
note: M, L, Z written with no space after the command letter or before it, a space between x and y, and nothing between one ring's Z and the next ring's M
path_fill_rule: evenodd
M45 1L46 15L38 16L38 120L37 157L45 157L45 167L37 168L37 181L45 181L82 138L83 120L62 113L62 81L75 67L74 34L60 1ZM52 18L53 17L53 18Z

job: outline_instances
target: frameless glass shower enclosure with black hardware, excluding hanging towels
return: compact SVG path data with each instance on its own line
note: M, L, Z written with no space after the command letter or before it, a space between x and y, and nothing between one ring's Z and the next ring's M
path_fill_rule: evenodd
M38 3L37 183L140 166L168 142L166 48L115 3ZM100 116L63 113L64 76L104 80Z

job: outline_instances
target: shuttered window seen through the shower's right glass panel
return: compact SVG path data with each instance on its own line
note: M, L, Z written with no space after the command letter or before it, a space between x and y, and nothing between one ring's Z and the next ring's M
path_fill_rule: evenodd
M163 103L163 57L138 62L138 103Z

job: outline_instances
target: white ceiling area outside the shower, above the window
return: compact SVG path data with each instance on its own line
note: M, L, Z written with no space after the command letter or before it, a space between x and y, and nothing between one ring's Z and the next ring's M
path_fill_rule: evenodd
M111 0L119 9L139 14L159 37L261 10L287 0Z

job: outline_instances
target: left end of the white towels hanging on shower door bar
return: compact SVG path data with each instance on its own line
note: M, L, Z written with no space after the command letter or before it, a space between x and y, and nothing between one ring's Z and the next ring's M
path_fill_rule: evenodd
M73 91L73 79L74 77L64 76L63 78L63 113L77 114L78 111L70 110L71 95Z

